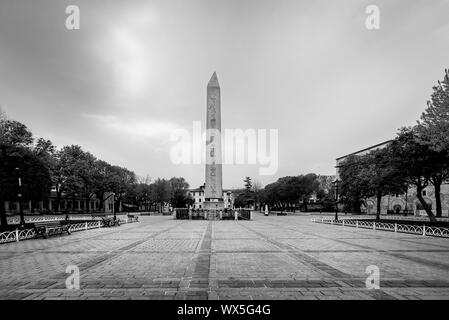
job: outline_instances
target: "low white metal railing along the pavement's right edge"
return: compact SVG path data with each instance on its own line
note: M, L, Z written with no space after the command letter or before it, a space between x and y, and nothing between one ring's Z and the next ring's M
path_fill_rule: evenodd
M449 238L449 228L442 227L428 227L426 225L411 225L391 222L376 222L376 221L361 221L355 219L340 219L338 221L333 219L314 218L312 222L340 225L344 227L355 227L362 229L383 230L399 233L419 234L422 236L433 236Z

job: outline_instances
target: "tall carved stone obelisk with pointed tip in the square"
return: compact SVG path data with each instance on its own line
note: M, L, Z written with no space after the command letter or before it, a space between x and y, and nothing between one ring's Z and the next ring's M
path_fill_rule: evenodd
M222 210L223 180L221 158L221 98L220 85L214 72L207 84L206 117L206 210Z

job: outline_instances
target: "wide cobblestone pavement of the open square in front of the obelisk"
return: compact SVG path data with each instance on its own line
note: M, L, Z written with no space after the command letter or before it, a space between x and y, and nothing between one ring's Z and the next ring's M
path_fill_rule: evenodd
M0 245L0 299L449 299L449 239L310 216L139 223ZM66 289L66 268L80 290ZM380 289L368 290L369 265Z

